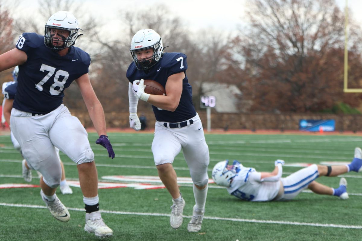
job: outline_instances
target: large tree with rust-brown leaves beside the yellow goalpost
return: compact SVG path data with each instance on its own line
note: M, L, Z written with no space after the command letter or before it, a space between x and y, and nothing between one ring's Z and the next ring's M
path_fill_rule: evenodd
M229 73L251 111L313 112L344 99L344 13L333 0L252 0L247 17ZM361 30L350 28L350 51L361 50Z

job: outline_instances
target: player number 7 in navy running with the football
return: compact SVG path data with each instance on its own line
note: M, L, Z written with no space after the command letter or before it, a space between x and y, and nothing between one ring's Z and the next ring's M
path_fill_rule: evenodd
M182 224L185 200L177 185L172 163L181 149L193 181L195 205L188 224L189 232L201 229L207 195L209 147L202 123L192 102L192 88L186 76L184 53L164 53L159 34L152 29L139 30L131 40L133 62L127 70L129 80L130 126L140 130L137 104L141 99L152 104L156 117L152 153L160 179L172 196L171 227ZM144 92L144 79L152 79L165 87L166 95Z

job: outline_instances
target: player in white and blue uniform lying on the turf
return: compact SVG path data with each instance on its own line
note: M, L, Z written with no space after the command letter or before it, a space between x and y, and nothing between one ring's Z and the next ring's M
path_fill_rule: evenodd
M354 149L354 159L346 165L317 165L300 169L287 177L282 177L283 160L274 162L273 172L257 172L254 168L244 167L234 160L218 162L212 169L212 179L217 185L227 188L228 193L244 201L290 201L305 189L313 193L333 195L341 199L348 199L347 181L340 179L340 186L330 188L315 181L320 176L336 177L347 172L362 171L362 150Z

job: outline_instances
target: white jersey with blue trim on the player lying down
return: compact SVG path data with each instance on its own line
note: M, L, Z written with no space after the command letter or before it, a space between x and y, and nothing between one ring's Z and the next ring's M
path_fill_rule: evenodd
M278 194L280 182L261 182L261 173L254 168L242 167L227 191L237 198L251 202L271 201Z

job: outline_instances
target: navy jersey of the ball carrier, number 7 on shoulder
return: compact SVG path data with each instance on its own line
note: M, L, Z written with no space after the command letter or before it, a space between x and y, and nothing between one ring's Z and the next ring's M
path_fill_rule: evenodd
M152 106L157 121L176 123L191 119L196 115L192 103L192 87L186 76L186 58L184 53L164 53L158 63L146 71L138 70L134 62L128 67L127 78L131 83L136 79L152 79L159 82L163 87L166 86L167 78L172 74L185 73L185 78L182 80L181 99L176 110L172 112Z

